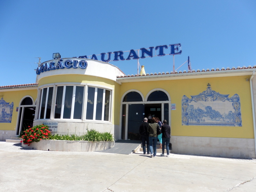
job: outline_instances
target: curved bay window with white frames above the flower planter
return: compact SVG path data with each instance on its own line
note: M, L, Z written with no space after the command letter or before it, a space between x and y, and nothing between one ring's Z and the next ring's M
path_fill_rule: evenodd
M109 121L110 97L111 91L100 87L87 85L46 87L40 90L38 117L39 119Z

